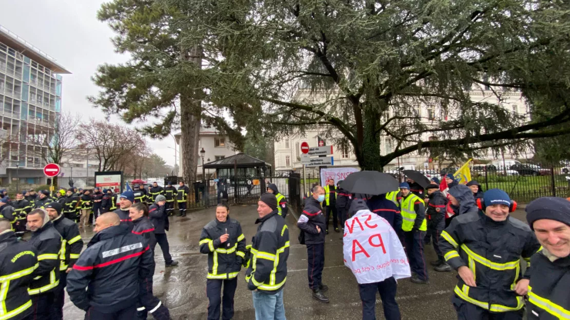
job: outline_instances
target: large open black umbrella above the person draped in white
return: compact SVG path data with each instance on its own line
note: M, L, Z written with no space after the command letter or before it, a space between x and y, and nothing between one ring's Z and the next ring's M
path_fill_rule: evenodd
M353 194L380 195L397 191L400 185L392 175L378 171L351 173L340 183L340 187Z

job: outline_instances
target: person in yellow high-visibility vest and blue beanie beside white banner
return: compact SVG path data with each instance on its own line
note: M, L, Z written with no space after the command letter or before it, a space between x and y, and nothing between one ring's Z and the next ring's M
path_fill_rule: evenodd
M400 184L400 192L402 194L400 202L402 231L404 231L410 269L414 273L410 281L416 284L429 284L424 256L424 236L427 230L424 199L410 192L410 185L407 182Z

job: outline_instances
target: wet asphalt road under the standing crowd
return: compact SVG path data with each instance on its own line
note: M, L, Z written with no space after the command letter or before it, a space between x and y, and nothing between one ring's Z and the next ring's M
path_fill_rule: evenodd
M291 210L290 210L291 212ZM320 303L312 299L307 285L307 251L297 240L299 229L296 228L294 214L287 216L291 247L288 258L287 283L284 291L286 317L289 320L302 319L361 319L361 302L357 282L352 273L343 264L343 246L341 233L331 232L325 245L325 267L323 283L329 286L326 293L330 303ZM513 214L524 219L524 211ZM199 252L198 240L201 229L215 216L215 208L195 211L186 217L170 218L170 253L178 266L165 268L160 247L156 249L156 272L154 274L154 295L169 308L172 318L207 319L206 298L206 255ZM230 208L231 218L240 221L247 243L255 235L257 226L256 206L237 205ZM332 223L332 222L331 222ZM91 229L91 228L89 228ZM332 228L331 228L332 229ZM84 242L92 236L91 231L82 231ZM426 260L437 260L433 248L426 248ZM455 272L439 273L429 268L430 284L413 284L408 279L398 282L397 301L400 305L402 319L410 320L452 320L457 319L451 296L457 282ZM238 288L235 292L235 320L255 319L251 292L243 280L245 270L239 275ZM64 318L70 320L83 319L83 311L76 308L67 297L64 306ZM377 295L376 316L384 318L380 296ZM152 317L149 317L152 318Z

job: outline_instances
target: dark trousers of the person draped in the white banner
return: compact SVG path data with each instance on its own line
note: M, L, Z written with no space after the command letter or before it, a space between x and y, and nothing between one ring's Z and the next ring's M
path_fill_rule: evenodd
M362 300L362 319L376 320L376 292L380 293L384 318L386 320L400 320L400 308L396 302L396 279L389 277L381 282L372 284L359 284L360 300Z

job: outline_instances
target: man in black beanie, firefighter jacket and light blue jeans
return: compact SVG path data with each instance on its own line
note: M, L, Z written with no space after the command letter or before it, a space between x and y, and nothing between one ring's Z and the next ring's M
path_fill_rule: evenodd
M283 286L287 280L289 230L277 212L275 195L262 194L257 213L257 233L251 239L251 261L246 271L247 289L253 291L256 319L285 319Z

